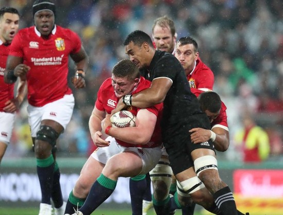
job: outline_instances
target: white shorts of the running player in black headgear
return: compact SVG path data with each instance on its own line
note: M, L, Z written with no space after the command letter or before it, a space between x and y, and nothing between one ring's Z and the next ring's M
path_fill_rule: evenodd
M75 105L73 94L65 95L63 98L45 104L42 107L35 107L28 104L28 122L31 130L31 136L36 137L40 123L44 119L50 119L58 122L66 129L67 124L72 118Z

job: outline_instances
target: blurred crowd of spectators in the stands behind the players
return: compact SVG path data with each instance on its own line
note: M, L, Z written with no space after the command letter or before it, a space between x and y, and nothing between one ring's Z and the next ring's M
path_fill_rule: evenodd
M127 58L128 33L151 35L163 15L174 22L178 38L197 40L202 61L215 74L214 91L227 106L231 144L220 159L242 160L235 135L249 116L269 136L268 159L283 153L283 2L279 0L57 0L56 24L77 32L90 57L86 88L75 90L72 121L58 142L62 156L87 156L93 150L89 117L100 84L112 67ZM1 0L21 13L20 28L33 25L33 0ZM69 78L75 73L70 63ZM70 84L72 87L72 85ZM34 156L27 123L27 103L17 113L5 157Z

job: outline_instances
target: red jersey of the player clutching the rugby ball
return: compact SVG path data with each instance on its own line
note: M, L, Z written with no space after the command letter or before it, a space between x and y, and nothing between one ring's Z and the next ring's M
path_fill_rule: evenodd
M114 89L111 83L112 83L112 79L108 78L101 84L99 91L97 93L97 100L95 102L95 106L99 111L106 111L108 114L110 114L111 111L115 109L116 104L119 101L119 99L115 96ZM144 77L140 77L139 84L132 94L138 93L143 89L150 87L150 84L151 84L150 81L146 80ZM152 112L157 116L155 129L148 144L146 145L129 144L127 142L116 139L118 144L120 144L123 147L140 147L140 148L154 148L160 146L162 144L161 128L160 128L162 108L163 108L163 104L156 104L154 106L151 106L150 108L147 108L148 111ZM132 112L136 116L140 108L130 106L127 110Z

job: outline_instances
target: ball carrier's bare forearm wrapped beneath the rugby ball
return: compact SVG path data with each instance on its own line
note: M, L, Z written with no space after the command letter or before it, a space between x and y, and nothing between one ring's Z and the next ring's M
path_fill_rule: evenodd
M144 145L151 138L152 133L141 132L137 127L113 128L109 130L109 135L129 144Z

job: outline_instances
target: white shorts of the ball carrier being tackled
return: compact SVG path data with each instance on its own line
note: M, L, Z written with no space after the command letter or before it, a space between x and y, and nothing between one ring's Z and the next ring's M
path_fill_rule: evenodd
M158 163L158 160L161 158L162 147L156 147L156 148L122 147L116 142L115 138L111 136L107 137L105 140L110 141L110 146L97 148L91 155L94 159L98 160L102 164L106 164L109 158L115 154L131 151L136 153L143 161L143 169L139 173L140 175L140 174L146 174L150 170L152 170L155 167L155 165Z

